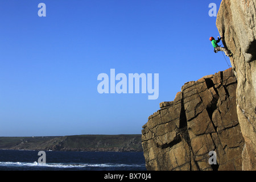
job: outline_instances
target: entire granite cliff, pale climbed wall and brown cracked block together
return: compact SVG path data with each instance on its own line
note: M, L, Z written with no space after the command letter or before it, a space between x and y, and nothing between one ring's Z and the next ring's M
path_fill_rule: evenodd
M142 130L148 170L256 170L256 0L223 0L216 26L232 68L184 84ZM217 164L209 163L215 151Z

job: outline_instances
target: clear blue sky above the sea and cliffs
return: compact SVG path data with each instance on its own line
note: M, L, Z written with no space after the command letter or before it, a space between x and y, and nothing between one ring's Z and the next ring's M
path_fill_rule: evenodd
M209 41L220 2L0 1L0 136L141 134L185 82L229 68ZM159 73L158 99L98 93L112 68Z

